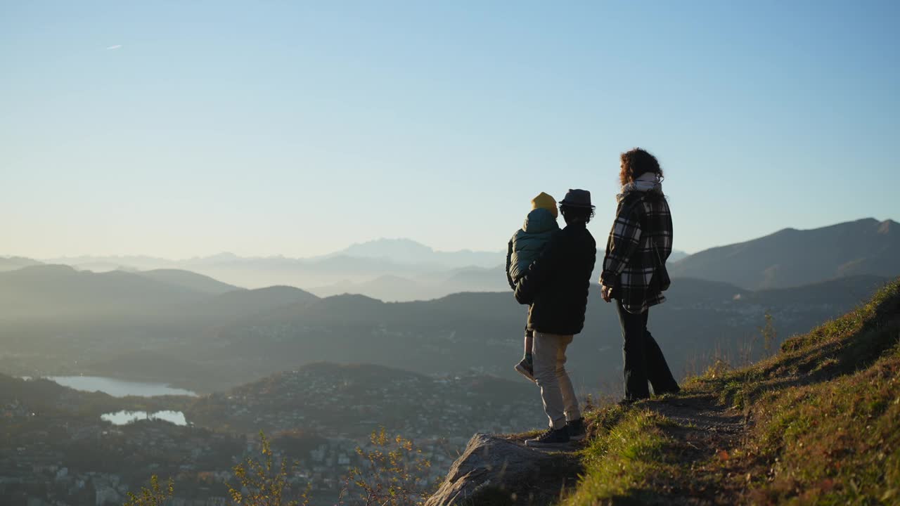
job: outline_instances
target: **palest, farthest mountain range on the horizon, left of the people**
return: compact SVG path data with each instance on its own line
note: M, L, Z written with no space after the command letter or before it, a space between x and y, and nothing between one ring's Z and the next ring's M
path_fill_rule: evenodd
M602 251L599 253L598 261L602 261ZM674 251L671 258L684 256L683 252ZM146 256L72 257L55 258L51 263L96 272L181 269L235 286L291 285L323 297L365 294L399 302L434 299L458 292L509 289L503 272L505 252L500 248L493 252L468 249L446 252L410 239L376 239L315 258L246 258L224 252L182 260ZM184 283L190 286L191 282Z

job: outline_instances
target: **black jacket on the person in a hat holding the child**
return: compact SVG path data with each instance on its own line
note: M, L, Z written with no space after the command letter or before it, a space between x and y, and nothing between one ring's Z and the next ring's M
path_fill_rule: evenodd
M571 336L584 329L597 243L583 223L554 235L516 285L518 303L530 304L528 330Z

